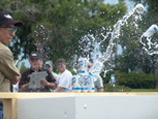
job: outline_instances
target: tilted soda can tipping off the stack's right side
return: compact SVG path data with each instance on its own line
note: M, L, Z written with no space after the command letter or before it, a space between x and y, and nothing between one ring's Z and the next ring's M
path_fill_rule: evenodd
M102 70L102 67L103 67L103 63L100 61L96 61L92 66L92 68L90 69L89 75L95 78L94 80L96 80L96 78L98 77L98 75Z

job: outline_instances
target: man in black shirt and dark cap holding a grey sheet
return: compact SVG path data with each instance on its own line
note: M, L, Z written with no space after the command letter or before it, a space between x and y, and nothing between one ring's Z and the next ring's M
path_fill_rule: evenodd
M31 53L29 63L31 65L31 68L23 72L21 81L19 83L19 92L50 92L50 89L56 88L55 78L48 70L41 68L41 58L38 53ZM47 76L45 79L42 79L39 82L44 86L44 88L29 89L30 78L33 73L43 71L47 73Z

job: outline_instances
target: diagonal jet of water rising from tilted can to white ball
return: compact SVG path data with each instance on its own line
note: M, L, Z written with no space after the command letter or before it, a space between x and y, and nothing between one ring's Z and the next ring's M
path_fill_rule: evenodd
M141 15L144 12L144 6L142 4L137 4L136 7L134 7L132 10L130 10L129 12L127 12L123 18L121 20L119 20L114 26L113 26L113 31L109 31L106 33L106 35L104 35L103 33L101 33L101 36L103 37L103 40L101 40L96 47L94 48L94 55L96 57L96 60L94 61L94 65L92 67L91 70L94 69L95 66L95 62L101 62L102 64L106 61L109 60L109 57L111 56L112 52L113 52L113 48L116 45L114 40L118 39L120 36L120 30L121 27L124 26L125 24L128 24L127 20L131 17L131 16L135 16L134 18L137 20L141 20ZM136 14L135 14L136 13ZM137 16L137 17L136 17ZM135 26L136 23L135 23ZM138 27L138 26L137 26ZM102 46L102 44L107 40L107 38L110 36L110 40L109 40L109 44L106 48L106 51L102 53L102 55L98 55L97 53L97 49L100 48ZM95 40L95 37L93 35L88 34L87 37L93 39L93 41ZM90 42L90 40L88 40ZM88 57L89 58L89 57ZM103 65L104 66L104 65ZM103 69L103 67L102 67ZM101 72L101 71L100 71ZM107 70L104 71L104 75L107 72Z

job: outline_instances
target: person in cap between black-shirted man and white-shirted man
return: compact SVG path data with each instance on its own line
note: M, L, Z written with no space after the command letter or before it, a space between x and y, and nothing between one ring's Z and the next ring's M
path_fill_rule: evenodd
M45 67L45 69L49 70L52 73L52 75L54 76L55 80L57 80L58 75L55 72L53 72L53 63L52 63L52 61L46 61L44 67Z

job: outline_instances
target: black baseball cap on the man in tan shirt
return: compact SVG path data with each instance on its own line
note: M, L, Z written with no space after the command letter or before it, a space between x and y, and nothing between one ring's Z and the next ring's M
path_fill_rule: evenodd
M23 22L14 21L14 19L7 12L2 11L0 12L0 24L22 26Z

